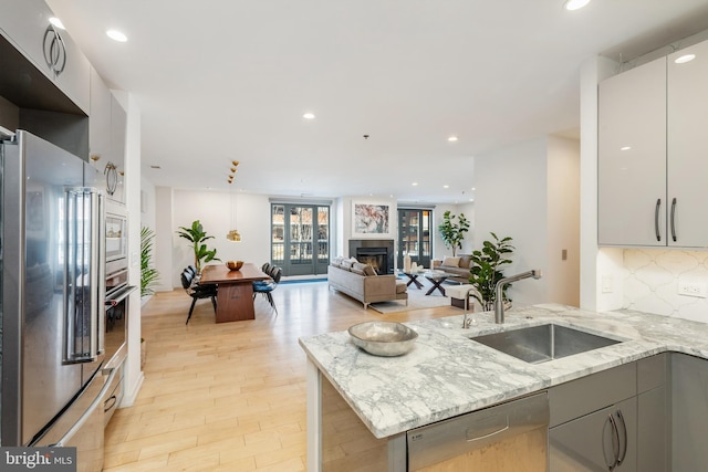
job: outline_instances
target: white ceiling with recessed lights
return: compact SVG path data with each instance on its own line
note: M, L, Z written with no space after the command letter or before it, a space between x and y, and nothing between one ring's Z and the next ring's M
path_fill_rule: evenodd
M708 29L708 0L48 3L134 94L155 185L226 191L237 159L246 192L407 202L467 201L472 156L576 129L585 60Z

